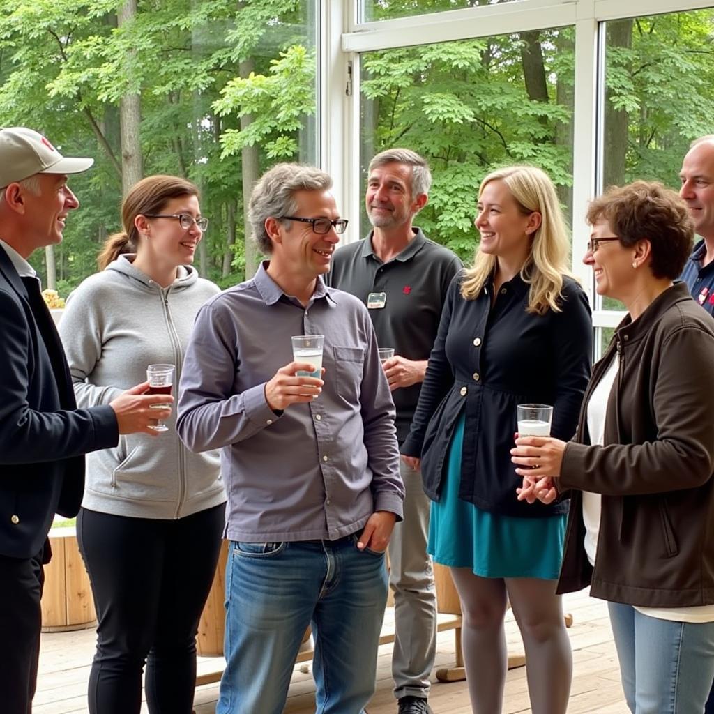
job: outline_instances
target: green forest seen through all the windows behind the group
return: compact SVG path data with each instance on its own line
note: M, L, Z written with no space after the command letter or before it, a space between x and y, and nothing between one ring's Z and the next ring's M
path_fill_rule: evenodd
M496 0L497 1L497 0ZM494 0L373 0L371 19ZM121 196L142 176L201 188L211 220L197 266L222 287L260 256L244 206L277 161L316 160L318 0L3 0L0 126L31 126L64 154L94 156L73 176L81 208L60 246L32 261L66 296L96 271L119 229ZM606 29L604 185L678 185L691 139L714 131L714 9ZM418 224L467 261L476 188L497 166L542 166L571 214L572 27L362 56L363 185L371 156L408 146L434 183ZM364 216L348 231L368 230ZM246 240L247 238L247 240Z

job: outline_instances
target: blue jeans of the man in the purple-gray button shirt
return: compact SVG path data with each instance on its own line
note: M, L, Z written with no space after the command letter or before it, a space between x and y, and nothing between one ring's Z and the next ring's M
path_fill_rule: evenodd
M216 714L281 714L301 639L315 638L316 714L362 714L387 600L383 553L336 541L231 542L226 670Z

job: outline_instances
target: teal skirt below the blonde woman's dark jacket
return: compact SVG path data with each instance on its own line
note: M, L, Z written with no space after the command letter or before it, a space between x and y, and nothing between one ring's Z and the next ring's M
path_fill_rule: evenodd
M428 552L441 565L471 568L482 578L555 580L568 516L498 516L458 498L465 421L462 413L449 446L441 500L431 503Z

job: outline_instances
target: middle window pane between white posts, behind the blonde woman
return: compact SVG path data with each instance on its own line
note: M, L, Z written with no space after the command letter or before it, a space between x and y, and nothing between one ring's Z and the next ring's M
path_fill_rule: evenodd
M429 201L416 223L471 261L481 179L506 164L548 172L572 203L573 29L365 53L361 187L374 154L396 146L428 159ZM371 226L361 216L361 233Z

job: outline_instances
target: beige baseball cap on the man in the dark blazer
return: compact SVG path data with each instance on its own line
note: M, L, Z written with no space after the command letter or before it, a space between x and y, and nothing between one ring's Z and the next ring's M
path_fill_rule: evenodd
M79 174L94 159L62 156L42 134L24 126L0 129L0 188L34 174Z

